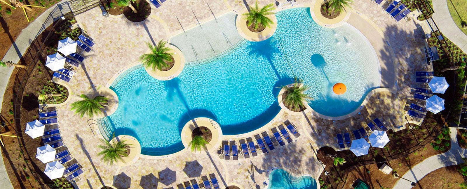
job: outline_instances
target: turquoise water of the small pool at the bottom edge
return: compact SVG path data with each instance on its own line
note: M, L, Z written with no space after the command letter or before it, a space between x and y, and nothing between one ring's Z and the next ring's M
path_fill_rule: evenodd
M316 180L311 176L293 176L284 169L269 173L268 189L317 189Z

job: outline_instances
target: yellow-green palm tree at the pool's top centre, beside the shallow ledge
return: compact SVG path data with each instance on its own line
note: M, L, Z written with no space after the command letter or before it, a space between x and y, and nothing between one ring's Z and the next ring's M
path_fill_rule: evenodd
M268 4L264 7L258 7L258 1L255 3L255 7L250 8L250 12L244 13L242 15L247 16L247 21L249 26L253 26L253 28L258 29L258 27L269 27L274 22L267 17L267 15L274 14L272 10L274 10L274 5Z

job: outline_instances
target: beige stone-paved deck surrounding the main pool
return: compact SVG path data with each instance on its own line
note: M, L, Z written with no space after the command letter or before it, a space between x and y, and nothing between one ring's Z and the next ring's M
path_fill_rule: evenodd
M203 23L214 19L213 14L217 16L229 11L240 13L245 8L244 2L254 5L255 0L202 2L168 0L157 9L151 5L152 12L149 18L138 23L132 23L121 15L105 18L101 16L99 8L77 15L79 26L95 40L96 45L91 53L85 54L84 64L76 69L76 74L69 84L70 90L73 91L71 95L106 86L116 73L137 62L139 56L147 51L145 42L168 40L174 34L183 32L181 26L184 29L197 27L197 19ZM261 5L267 2L274 1L259 0ZM283 8L288 7L286 0L278 2L283 4ZM310 5L311 0L297 0L297 3ZM255 134L265 130L270 133L270 128L289 120L297 126L301 136L297 139L291 136L294 142L284 147L276 147L276 150L269 154L258 154L248 159L223 160L217 153L192 154L185 149L170 158L140 157L134 164L120 167L106 165L97 155L100 149L96 147L96 141L100 136L92 135L87 124L89 118L80 118L70 110L70 104L76 101L76 98L71 98L68 103L57 107L57 111L60 112L58 119L64 143L85 170L77 185L80 188L100 188L103 185L117 188L176 188L177 184L193 178L188 175L197 172L198 183L200 176L214 173L221 188L231 184L244 189L263 188L262 182L267 177L267 171L275 167L289 169L293 175L310 174L317 179L324 167L318 162L314 152L323 146L337 148L337 133L352 132L374 118L382 118L390 129L395 130L398 129L390 125L405 125L407 121L419 122L411 120L404 109L407 103L414 101L410 91L417 86L415 71L432 70L432 67L425 64L421 53L425 41L421 38L423 31L420 31L420 25L425 23L414 21L416 19L413 19L412 13L409 15L410 21L401 20L396 23L381 6L369 0L355 0L354 5L358 6L348 10L351 12L348 23L359 28L375 48L382 68L381 85L394 89L373 94L368 103L360 109L360 114L331 121L306 111L302 115L289 115L281 111L274 120L256 130ZM238 141L245 136L247 135L224 135L223 139ZM248 136L252 137L253 133ZM189 167L184 169L186 162L193 161L197 161L203 168L196 169L191 167L190 163ZM167 168L176 173L159 177L159 172ZM122 173L127 175L123 176L127 179L114 179L121 178L115 175Z

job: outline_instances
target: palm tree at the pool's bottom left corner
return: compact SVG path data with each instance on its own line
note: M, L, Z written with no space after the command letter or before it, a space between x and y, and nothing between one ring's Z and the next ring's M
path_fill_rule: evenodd
M127 150L130 148L128 144L125 144L125 141L108 142L104 139L100 139L100 141L104 145L97 146L102 149L98 155L102 155L102 160L104 160L104 162L110 163L111 165L113 162L117 162L117 160L125 162L122 157L127 155Z

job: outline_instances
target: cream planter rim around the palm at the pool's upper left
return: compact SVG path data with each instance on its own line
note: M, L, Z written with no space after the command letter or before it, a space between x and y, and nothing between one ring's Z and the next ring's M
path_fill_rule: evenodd
M182 73L183 68L185 67L185 57L183 56L182 51L180 51L180 49L170 44L168 44L167 47L170 48L169 53L172 54L172 58L173 58L173 66L170 67L170 69L153 70L150 67L145 67L146 72L148 72L149 75L151 75L152 77L158 80L163 80L163 81L176 78L180 73Z

